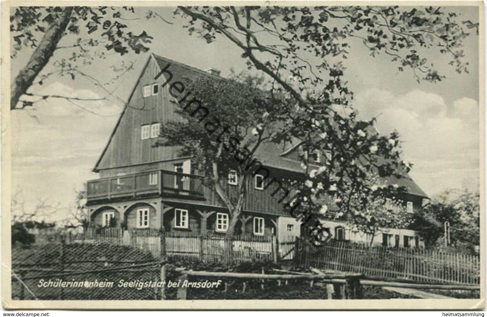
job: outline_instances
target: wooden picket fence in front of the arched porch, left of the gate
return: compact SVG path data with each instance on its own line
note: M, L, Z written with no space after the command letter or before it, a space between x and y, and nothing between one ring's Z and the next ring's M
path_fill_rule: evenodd
M49 232L36 235L37 244L61 242L131 245L150 252L156 258L165 254L172 259L190 258L226 264L252 260L277 262L280 252L280 245L274 236L242 235L228 238L218 233L164 233L159 229L121 228L86 228L82 233Z

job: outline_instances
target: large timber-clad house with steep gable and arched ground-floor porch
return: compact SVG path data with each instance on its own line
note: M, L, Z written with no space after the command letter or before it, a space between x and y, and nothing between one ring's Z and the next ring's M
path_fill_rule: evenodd
M203 177L191 165L191 157L179 156L176 146L154 146L162 125L181 120L175 112L179 106L169 94L169 85L162 87L166 78L163 75L154 79L168 64L174 76L172 81L198 76L224 80L214 69L203 71L154 54L150 56L96 162L94 171L100 178L87 183L89 219L97 226L124 229L225 234L229 223L227 208L216 192L204 186ZM254 156L283 184L286 179L302 178L298 142L267 142ZM317 167L325 161L326 155L322 154L311 159ZM225 179L230 195L236 191L238 177L231 171ZM426 194L410 178L401 181L408 189L405 204L412 212L418 210ZM248 198L237 234L276 236L279 240L300 236L300 223L284 211L287 198L270 195L259 175L249 178L247 186ZM292 192L288 197L292 197ZM354 237L342 224L330 223L330 227L335 238ZM407 234L417 236L410 231Z

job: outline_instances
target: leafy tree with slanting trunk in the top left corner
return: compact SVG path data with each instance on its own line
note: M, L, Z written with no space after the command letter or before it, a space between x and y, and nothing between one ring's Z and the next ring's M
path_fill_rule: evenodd
M21 6L12 8L10 35L12 59L19 51L32 50L27 64L12 82L10 108L31 106L33 101L21 100L32 84L42 84L52 75L75 79L85 76L100 85L96 79L80 71L81 66L96 59L106 59L107 53L123 56L129 51L136 54L147 52L152 37L146 31L134 34L128 29L124 16L134 13L133 7L89 7L89 6ZM149 10L149 12L151 12ZM153 16L147 16L147 19ZM60 43L63 43L62 45ZM66 53L69 50L69 54ZM56 70L41 73L56 51L63 51L62 57L53 62ZM123 65L123 70L130 65ZM32 94L31 94L32 95ZM50 96L39 96L39 100ZM66 96L69 98L69 96ZM38 101L38 100L36 100Z

